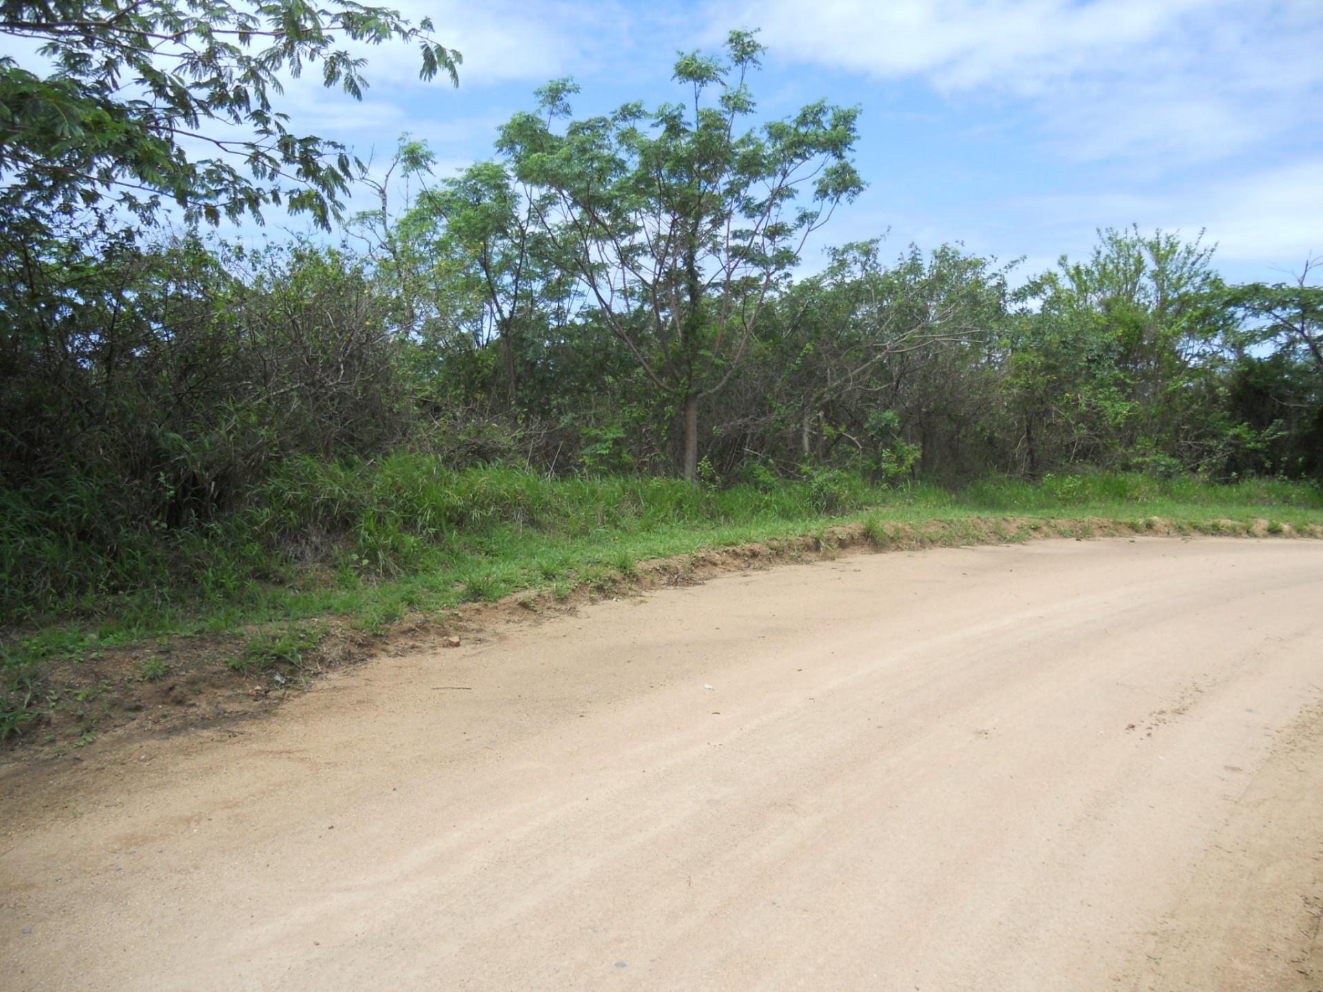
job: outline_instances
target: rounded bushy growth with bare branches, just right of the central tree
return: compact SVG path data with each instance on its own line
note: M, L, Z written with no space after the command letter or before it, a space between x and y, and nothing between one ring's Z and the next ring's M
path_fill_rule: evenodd
M984 471L970 423L995 415L988 354L1012 320L1009 271L953 246L912 246L890 265L880 238L832 250L769 319L755 358L771 436L754 443L878 479L941 472L949 448L960 471Z

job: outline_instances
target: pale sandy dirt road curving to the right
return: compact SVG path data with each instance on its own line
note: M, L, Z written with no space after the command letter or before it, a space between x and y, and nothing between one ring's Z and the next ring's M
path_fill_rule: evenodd
M728 577L0 803L13 992L1319 989L1323 544Z

